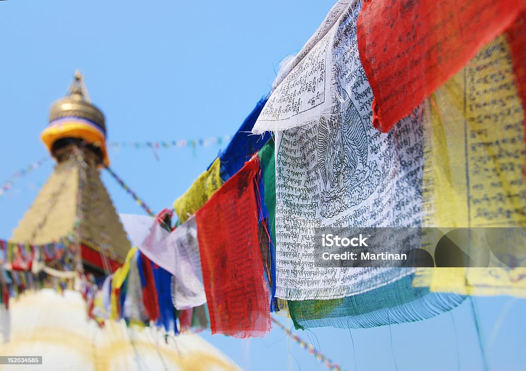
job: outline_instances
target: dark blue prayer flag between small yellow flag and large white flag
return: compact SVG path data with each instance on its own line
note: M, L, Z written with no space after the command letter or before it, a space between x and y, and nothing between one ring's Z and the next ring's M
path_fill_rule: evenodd
M250 112L247 118L241 123L236 134L224 151L219 153L221 160L221 179L227 181L237 173L250 159L252 154L259 151L270 138L270 133L262 135L253 135L251 133L254 123L258 118L261 110L267 102L268 96L262 97L256 104L256 107Z

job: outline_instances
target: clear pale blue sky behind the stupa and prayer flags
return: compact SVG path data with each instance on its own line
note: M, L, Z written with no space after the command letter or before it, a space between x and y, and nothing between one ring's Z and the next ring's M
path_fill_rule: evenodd
M0 182L45 156L39 133L50 104L66 93L77 68L106 115L109 141L233 134L269 91L280 60L301 48L332 5L330 0L0 2ZM158 160L151 149L109 154L119 176L159 211L170 207L219 149L159 149ZM0 238L11 235L52 165L48 161L0 198ZM102 178L119 212L143 213L108 174ZM475 298L474 304L490 369L526 368L526 301L489 297ZM469 302L417 323L298 334L350 370L482 369ZM265 339L203 337L245 369L325 368L279 328Z

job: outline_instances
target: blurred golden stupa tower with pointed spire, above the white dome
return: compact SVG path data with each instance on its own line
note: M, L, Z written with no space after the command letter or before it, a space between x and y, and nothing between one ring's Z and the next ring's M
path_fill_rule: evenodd
M41 138L57 163L10 242L42 245L68 238L77 270L113 272L130 242L100 180L100 169L109 165L105 117L91 103L79 71L68 95L51 106Z

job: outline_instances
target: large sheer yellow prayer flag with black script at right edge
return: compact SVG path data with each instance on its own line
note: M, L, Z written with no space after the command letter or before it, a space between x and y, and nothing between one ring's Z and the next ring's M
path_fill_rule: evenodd
M424 138L423 226L441 229L427 236L430 246L454 228L526 226L524 110L504 36L428 99ZM526 268L501 265L419 269L413 285L433 292L526 296Z

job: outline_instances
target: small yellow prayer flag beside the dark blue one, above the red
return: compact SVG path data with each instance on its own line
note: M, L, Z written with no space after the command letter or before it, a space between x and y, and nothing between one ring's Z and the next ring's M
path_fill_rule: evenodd
M175 200L174 211L181 223L203 207L211 195L221 187L220 168L221 162L216 158L208 170L201 173L190 188Z

